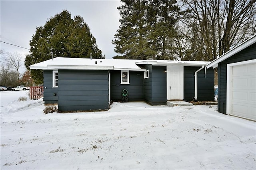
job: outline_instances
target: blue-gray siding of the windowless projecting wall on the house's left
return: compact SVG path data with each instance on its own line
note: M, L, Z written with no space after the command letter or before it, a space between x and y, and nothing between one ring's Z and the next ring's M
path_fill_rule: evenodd
M59 70L58 110L108 109L108 71Z

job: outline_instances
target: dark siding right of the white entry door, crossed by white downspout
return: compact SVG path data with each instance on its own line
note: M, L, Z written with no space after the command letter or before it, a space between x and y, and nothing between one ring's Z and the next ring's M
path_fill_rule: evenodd
M184 67L184 100L194 101L195 97L195 72L201 67ZM214 69L204 69L197 73L197 100L214 101Z

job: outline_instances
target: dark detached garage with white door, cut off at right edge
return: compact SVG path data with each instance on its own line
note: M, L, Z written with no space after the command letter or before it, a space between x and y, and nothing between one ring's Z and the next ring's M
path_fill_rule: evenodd
M256 121L256 36L206 67L218 67L218 111Z

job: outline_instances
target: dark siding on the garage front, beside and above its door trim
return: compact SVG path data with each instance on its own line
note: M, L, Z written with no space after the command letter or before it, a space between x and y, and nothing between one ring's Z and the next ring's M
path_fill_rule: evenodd
M256 59L256 43L218 63L218 111L226 114L227 64Z

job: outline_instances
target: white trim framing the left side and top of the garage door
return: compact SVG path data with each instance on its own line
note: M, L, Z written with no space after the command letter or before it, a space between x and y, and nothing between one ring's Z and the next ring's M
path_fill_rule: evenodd
M256 63L256 59L227 64L227 93L226 93L226 99L227 99L226 114L227 115L232 115L232 67L237 65L251 64L251 63Z

